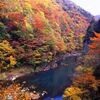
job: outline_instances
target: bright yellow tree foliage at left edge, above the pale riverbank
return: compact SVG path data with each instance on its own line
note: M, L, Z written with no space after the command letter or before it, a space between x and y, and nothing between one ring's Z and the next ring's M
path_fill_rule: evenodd
M16 65L17 61L14 58L14 54L15 50L7 40L0 42L0 70Z

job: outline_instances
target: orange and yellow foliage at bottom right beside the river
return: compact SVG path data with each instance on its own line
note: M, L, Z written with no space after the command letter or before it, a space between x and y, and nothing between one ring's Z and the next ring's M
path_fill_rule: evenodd
M81 100L93 99L96 96L100 80L97 80L93 75L92 67L78 66L76 68L76 75L73 78L73 83L66 88L63 94L64 99Z

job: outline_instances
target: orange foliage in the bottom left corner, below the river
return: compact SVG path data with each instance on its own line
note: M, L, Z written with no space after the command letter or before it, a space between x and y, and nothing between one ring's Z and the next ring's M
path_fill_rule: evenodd
M2 98L2 100L8 100L9 98L11 98L10 100L38 100L40 95L39 93L23 91L19 84L12 84L6 88L0 89L0 98Z

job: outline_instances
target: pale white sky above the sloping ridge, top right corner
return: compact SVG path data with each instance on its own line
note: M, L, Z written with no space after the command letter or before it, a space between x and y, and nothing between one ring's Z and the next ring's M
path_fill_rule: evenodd
M100 0L71 0L93 15L100 15Z

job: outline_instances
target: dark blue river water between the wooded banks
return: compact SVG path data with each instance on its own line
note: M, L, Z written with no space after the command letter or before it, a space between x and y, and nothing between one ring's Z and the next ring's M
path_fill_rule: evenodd
M76 57L68 57L58 63L58 68L45 72L31 73L17 79L18 82L26 81L30 86L35 84L39 90L46 90L53 97L61 95L65 87L71 85L76 63Z

